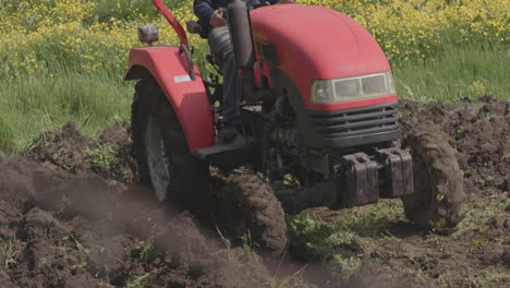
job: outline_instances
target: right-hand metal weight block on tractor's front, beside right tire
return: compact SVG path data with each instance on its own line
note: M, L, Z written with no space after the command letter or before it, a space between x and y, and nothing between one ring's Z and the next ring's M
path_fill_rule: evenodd
M413 160L408 151L378 149L376 160L381 165L381 197L402 197L414 193Z

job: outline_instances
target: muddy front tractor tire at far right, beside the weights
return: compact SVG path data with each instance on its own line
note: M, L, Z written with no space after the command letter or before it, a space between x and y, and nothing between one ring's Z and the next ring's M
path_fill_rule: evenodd
M452 228L464 216L462 171L453 147L438 132L421 131L404 139L413 157L414 191L403 197L405 216L425 229Z

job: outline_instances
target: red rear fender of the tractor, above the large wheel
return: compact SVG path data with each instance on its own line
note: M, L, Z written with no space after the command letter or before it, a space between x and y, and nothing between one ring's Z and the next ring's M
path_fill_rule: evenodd
M215 132L209 98L195 69L196 80L189 75L185 53L175 46L132 48L124 80L154 77L173 107L191 152L214 144Z

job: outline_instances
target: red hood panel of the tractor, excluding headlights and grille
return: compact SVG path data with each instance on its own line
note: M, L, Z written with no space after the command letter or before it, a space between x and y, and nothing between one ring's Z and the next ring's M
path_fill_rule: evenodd
M315 80L390 71L385 53L374 37L354 20L338 11L324 7L284 4L254 10L251 17L257 56L268 53L260 51L260 47L270 47L269 55L272 57L259 58L267 59L269 64L282 70L294 82L308 109L335 110L354 108L353 105L366 106L363 101L338 105L309 103ZM394 101L396 97L391 100ZM371 100L371 104L376 103Z

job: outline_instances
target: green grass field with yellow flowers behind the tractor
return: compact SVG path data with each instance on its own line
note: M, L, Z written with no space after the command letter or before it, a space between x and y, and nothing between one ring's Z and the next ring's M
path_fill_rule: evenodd
M193 19L192 1L167 2L181 21ZM402 97L510 98L508 1L296 2L337 9L367 27ZM94 135L129 119L133 83L122 74L129 48L139 45L136 27L157 24L160 43L177 41L148 0L2 0L0 19L0 147L15 149L66 121Z

